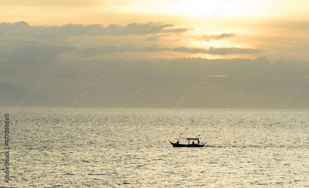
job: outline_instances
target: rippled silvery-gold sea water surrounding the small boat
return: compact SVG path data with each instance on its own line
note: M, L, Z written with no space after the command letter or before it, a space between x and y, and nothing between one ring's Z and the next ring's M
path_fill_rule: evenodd
M20 108L10 123L0 187L309 186L308 110ZM207 147L172 147L185 128Z

